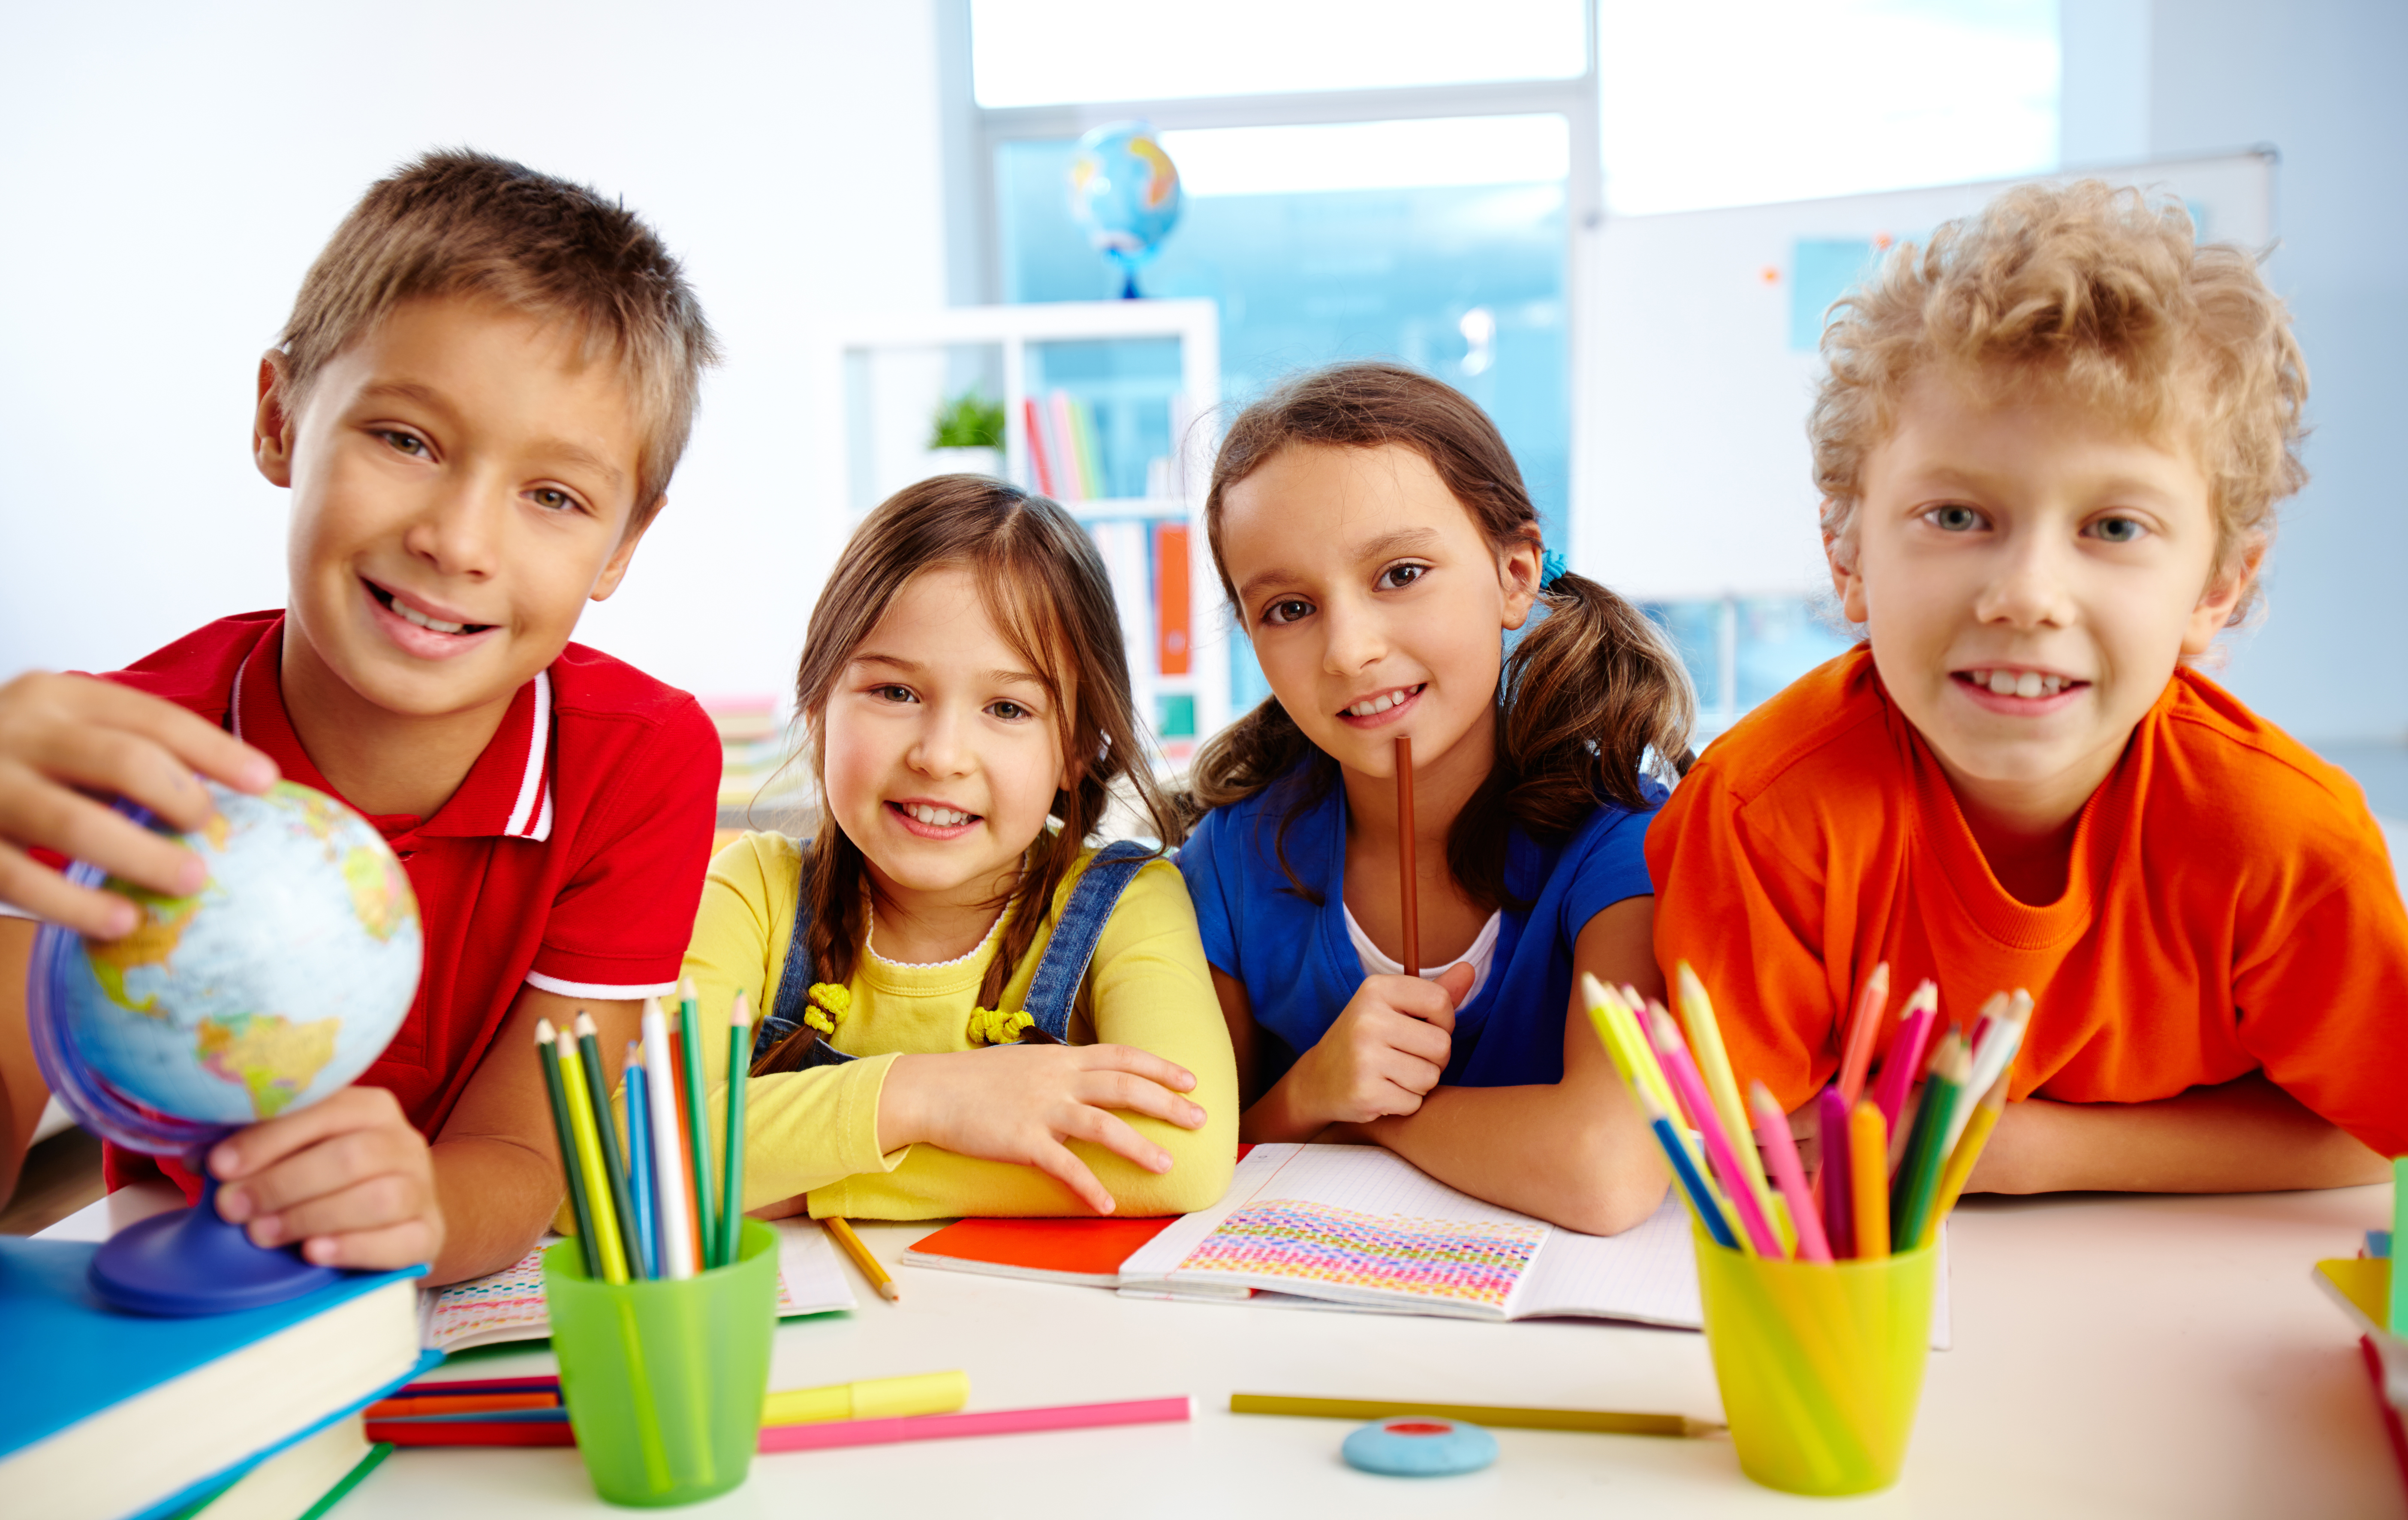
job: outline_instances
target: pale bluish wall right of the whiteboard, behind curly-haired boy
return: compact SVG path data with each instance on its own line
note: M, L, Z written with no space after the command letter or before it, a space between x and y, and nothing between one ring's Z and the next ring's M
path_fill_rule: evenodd
M2150 152L2283 152L2266 272L2312 385L2314 482L2225 679L2309 742L2408 737L2408 5L2155 0L2148 39Z

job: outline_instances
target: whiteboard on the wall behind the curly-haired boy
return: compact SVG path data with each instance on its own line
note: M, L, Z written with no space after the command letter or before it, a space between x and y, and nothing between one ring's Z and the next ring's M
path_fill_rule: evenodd
M1823 308L1876 248L1922 241L2015 183L2179 195L2203 241L2273 241L2273 149L1664 217L1587 241L1572 544L1640 600L1830 588L1806 407Z

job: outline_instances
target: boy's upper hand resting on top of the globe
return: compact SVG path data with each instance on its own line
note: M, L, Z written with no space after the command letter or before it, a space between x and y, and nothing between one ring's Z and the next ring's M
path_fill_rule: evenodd
M200 858L94 797L125 797L181 831L217 807L195 778L265 793L277 764L171 701L82 674L29 672L0 687L0 903L94 939L132 932L135 906L75 886L34 860L89 860L164 896L197 891Z

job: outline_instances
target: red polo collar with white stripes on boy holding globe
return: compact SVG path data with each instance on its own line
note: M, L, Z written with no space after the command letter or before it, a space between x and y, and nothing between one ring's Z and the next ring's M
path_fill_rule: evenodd
M279 617L234 672L229 727L236 740L275 759L284 780L342 797L311 764L284 711L284 687L277 679L282 653ZM503 713L484 754L431 819L368 814L368 821L395 848L407 848L412 838L551 838L551 672L537 670L535 679L510 696L510 711Z

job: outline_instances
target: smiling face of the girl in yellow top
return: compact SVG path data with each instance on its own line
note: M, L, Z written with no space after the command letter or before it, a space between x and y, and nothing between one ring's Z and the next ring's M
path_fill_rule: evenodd
M1064 785L1055 699L942 566L903 583L821 711L828 812L905 908L990 903Z

